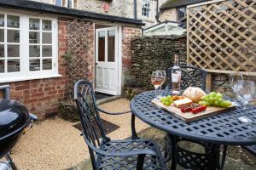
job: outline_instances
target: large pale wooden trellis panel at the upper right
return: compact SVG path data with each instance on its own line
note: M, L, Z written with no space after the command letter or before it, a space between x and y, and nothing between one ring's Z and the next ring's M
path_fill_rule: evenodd
M214 0L187 8L188 65L256 76L256 0Z

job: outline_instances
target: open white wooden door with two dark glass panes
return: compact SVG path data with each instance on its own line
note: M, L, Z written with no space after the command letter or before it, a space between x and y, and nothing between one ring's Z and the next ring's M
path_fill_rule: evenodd
M119 94L118 29L96 29L96 92Z

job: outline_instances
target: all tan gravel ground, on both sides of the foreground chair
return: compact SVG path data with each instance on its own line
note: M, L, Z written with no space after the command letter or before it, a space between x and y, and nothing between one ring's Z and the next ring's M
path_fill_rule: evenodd
M118 99L100 107L106 111L129 111L130 101ZM101 114L102 118L119 126L109 133L112 139L131 136L131 113L121 116ZM67 169L89 158L87 146L80 131L67 122L55 117L32 127L15 146L12 156L20 170ZM137 119L137 131L148 127Z

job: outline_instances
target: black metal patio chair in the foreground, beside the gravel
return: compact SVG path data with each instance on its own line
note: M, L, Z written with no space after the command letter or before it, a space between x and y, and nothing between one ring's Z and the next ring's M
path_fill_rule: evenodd
M102 127L96 105L92 83L79 80L75 83L74 99L79 109L83 126L83 136L90 151L94 170L99 169L157 169L165 170L166 165L159 146L146 139L111 140ZM119 115L123 113L109 113Z

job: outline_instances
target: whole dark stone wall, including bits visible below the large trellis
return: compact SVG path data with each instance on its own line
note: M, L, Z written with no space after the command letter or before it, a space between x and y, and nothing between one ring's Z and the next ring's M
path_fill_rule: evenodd
M132 42L131 70L125 74L124 95L133 97L144 90L154 89L151 72L173 65L179 54L179 65L186 65L186 37L138 37ZM230 93L229 74L212 73L212 91ZM256 77L245 77L256 82Z

